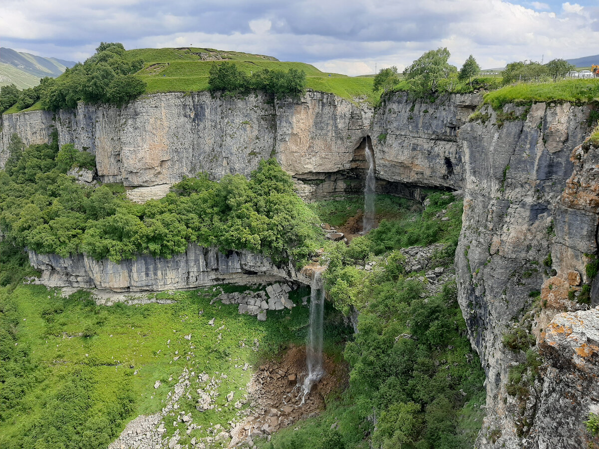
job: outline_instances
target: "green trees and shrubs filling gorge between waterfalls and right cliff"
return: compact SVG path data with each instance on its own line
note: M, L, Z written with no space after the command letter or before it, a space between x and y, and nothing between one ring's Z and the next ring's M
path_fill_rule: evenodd
M455 282L429 274L451 271L462 204L447 193L431 193L427 204L379 196L378 216L385 217L379 228L349 246L329 248L329 299L358 318L359 332L344 350L349 388L330 399L322 415L280 431L262 447L473 446L484 373L465 336ZM358 207L361 199L313 205L336 226ZM406 247L431 244L426 269L411 266Z

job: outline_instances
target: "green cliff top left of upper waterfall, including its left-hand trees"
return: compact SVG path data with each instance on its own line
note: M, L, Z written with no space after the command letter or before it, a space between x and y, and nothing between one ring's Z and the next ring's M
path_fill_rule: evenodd
M235 65L248 77L264 70L304 72L302 89L334 93L350 101L374 104L380 96L380 92L373 92L373 78L321 72L307 63L282 62L272 56L210 48L125 50L122 44L102 43L86 62L56 80L44 78L39 86L23 91L14 86L14 92L10 87L2 90L0 111L72 109L81 100L123 105L144 93L202 92L210 89L210 68L223 62Z

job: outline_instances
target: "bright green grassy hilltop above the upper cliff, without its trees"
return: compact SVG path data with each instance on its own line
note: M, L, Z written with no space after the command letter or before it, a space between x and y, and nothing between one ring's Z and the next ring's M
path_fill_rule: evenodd
M215 62L235 63L248 74L262 68L303 70L308 89L335 93L343 98L373 101L373 78L348 77L321 72L303 62L282 62L262 54L222 51L213 48L138 48L126 52L130 60L143 59L144 68L137 72L147 83L147 93L196 92L208 89L210 66Z

